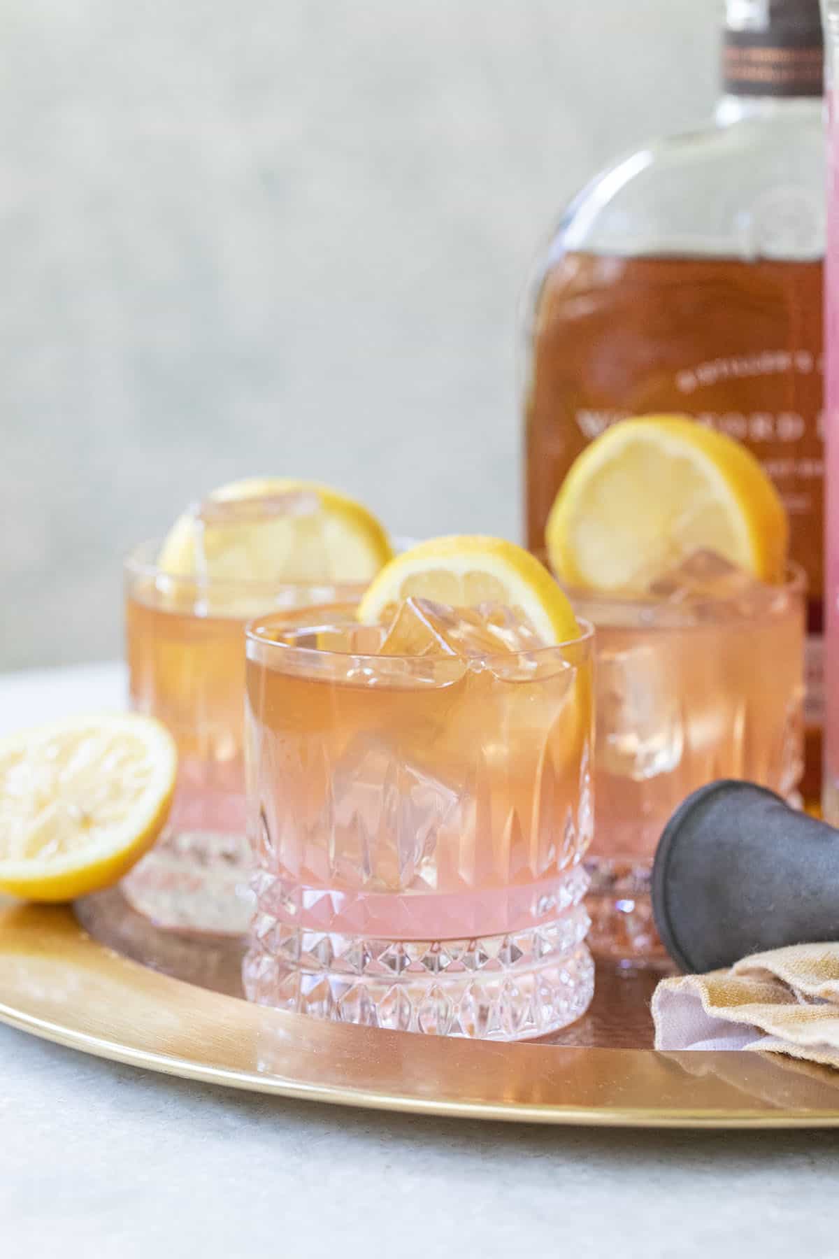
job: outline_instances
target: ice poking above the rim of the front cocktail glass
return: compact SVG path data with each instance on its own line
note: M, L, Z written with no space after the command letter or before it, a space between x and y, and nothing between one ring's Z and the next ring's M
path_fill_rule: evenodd
M414 597L400 603L381 650L399 656L492 657L541 646L527 621L503 604L450 608Z

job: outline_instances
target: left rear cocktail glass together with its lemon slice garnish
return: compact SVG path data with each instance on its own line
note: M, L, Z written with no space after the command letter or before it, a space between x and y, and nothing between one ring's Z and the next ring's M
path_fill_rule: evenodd
M236 481L127 562L132 705L177 743L169 826L126 880L171 928L240 933L250 915L244 837L244 627L250 617L358 598L391 558L385 530L337 490Z

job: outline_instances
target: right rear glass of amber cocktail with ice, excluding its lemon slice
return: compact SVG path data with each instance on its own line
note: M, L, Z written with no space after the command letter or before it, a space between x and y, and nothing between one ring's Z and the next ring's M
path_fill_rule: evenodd
M655 846L704 783L742 778L800 802L805 580L766 585L697 553L645 597L575 594L596 627L597 947L658 947L648 899Z

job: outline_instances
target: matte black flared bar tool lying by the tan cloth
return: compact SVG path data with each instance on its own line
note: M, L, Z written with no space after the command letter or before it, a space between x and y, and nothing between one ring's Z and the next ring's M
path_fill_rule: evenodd
M752 783L701 787L664 827L653 913L682 971L839 940L839 831Z

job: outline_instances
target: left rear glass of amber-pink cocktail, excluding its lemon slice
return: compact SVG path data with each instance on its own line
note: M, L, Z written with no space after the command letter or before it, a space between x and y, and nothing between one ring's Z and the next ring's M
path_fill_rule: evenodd
M158 546L127 562L126 646L132 708L177 743L169 825L126 879L158 925L239 933L250 915L244 801L244 627L257 613L357 594L360 587L172 577Z

